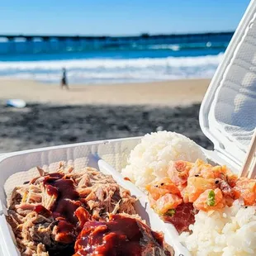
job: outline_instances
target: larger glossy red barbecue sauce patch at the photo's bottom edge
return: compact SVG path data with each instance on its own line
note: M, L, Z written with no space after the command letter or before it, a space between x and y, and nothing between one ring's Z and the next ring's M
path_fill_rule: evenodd
M139 256L171 255L164 249L163 236L140 220L114 215L109 221L88 221L75 243L75 254Z

